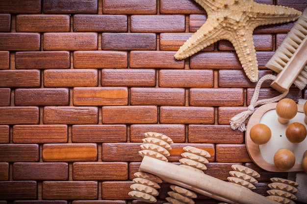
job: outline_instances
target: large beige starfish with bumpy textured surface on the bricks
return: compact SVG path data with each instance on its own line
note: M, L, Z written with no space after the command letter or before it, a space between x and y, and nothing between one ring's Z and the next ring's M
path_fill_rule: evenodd
M195 0L206 11L206 22L175 54L187 58L219 40L229 40L247 77L258 81L258 62L253 42L259 25L295 21L302 12L293 8L256 3L253 0Z

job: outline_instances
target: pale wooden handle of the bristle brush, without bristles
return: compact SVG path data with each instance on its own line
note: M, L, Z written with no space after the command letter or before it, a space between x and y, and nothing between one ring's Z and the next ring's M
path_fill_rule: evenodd
M279 92L290 89L291 85L307 63L307 38L295 50L292 57L272 82L271 87Z

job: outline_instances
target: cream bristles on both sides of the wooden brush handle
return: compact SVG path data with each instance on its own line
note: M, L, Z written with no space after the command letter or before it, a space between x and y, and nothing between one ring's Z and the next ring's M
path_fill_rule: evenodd
M272 58L266 64L267 68L279 73L289 62L295 50L301 45L302 41L307 38L307 9L294 24L282 44L276 50ZM303 68L299 76L295 79L294 84L303 90L307 84L307 65Z

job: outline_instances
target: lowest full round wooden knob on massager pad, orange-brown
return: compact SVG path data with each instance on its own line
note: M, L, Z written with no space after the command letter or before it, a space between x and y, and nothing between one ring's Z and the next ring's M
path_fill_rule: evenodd
M290 150L281 148L274 155L274 164L280 170L287 171L294 166L295 156Z

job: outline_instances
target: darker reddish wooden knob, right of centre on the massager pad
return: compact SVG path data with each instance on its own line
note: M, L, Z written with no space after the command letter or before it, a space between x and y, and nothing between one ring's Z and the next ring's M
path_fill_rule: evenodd
M286 137L292 143L300 143L304 141L307 135L305 125L299 122L294 122L286 128Z

